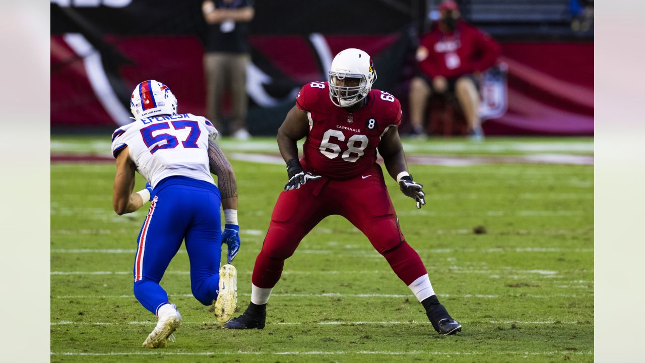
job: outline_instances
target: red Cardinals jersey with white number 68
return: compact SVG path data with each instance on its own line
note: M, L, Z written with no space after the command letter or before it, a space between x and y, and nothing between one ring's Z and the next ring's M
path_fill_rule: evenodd
M376 162L381 136L401 124L401 103L388 92L372 89L366 105L350 114L329 98L327 82L304 85L296 106L307 112L309 134L303 145L303 167L344 180L361 174Z

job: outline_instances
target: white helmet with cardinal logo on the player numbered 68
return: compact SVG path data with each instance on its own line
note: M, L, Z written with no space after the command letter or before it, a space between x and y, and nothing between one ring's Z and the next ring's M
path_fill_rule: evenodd
M357 86L341 86L342 79L355 79ZM372 57L360 49L348 48L337 54L329 71L329 97L338 107L350 107L362 101L372 90L376 70Z

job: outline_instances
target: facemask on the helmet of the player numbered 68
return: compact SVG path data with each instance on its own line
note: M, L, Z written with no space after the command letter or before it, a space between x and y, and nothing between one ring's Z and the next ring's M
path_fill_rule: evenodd
M359 103L370 92L371 86L363 74L329 72L330 98L338 107Z

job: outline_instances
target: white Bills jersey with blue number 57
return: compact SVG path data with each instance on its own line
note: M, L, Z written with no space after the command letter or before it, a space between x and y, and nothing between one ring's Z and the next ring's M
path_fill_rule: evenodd
M217 130L192 114L144 118L112 134L112 155L128 147L130 159L154 188L168 176L186 176L215 184L208 166L208 138Z

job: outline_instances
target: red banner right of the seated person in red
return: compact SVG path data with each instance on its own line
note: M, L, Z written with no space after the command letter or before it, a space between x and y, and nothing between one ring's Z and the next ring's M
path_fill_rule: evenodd
M593 43L502 43L508 110L486 134L593 135Z

